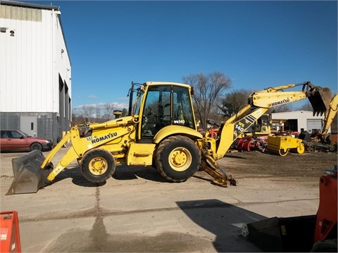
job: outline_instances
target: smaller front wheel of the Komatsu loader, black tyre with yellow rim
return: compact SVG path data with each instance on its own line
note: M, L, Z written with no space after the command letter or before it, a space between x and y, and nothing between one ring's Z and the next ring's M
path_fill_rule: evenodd
M111 153L103 149L94 149L84 155L81 171L85 179L92 183L102 183L113 176L115 159Z

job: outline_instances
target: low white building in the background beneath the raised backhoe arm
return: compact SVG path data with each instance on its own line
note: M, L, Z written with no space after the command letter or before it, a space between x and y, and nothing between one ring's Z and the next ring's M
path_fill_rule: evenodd
M285 119L287 126L285 131L308 131L321 130L324 125L325 115L313 116L313 112L294 111L294 112L276 112L271 114L271 119ZM329 129L330 130L330 129Z

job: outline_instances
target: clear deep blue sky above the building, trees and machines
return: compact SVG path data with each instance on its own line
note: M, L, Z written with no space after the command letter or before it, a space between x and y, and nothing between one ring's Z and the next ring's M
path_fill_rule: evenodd
M132 81L215 71L229 91L311 81L337 92L337 1L31 2L60 6L73 108L127 108Z

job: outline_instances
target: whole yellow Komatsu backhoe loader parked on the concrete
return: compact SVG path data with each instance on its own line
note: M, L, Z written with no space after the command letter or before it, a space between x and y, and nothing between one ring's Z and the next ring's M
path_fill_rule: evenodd
M296 86L302 86L301 91L283 91ZM73 160L77 160L84 178L94 183L109 179L117 164L127 164L152 165L173 182L186 181L201 167L213 176L213 183L227 186L229 181L235 185L216 160L225 155L237 136L271 107L308 98L314 113L323 114L331 100L330 89L310 82L252 93L248 105L221 126L216 140L197 131L193 94L194 89L187 84L132 82L128 116L89 124L86 134L74 126L46 157L35 150L13 159L14 179L7 194L36 193ZM54 167L51 161L69 140L71 147Z

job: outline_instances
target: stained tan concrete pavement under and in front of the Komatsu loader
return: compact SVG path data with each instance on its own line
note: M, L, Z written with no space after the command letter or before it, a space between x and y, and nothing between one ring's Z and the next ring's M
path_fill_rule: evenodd
M76 162L37 193L5 195L18 155L0 154L1 212L18 211L23 252L260 252L243 223L318 208L318 179L237 175L238 186L220 188L203 171L168 183L154 168L120 166L96 186Z

